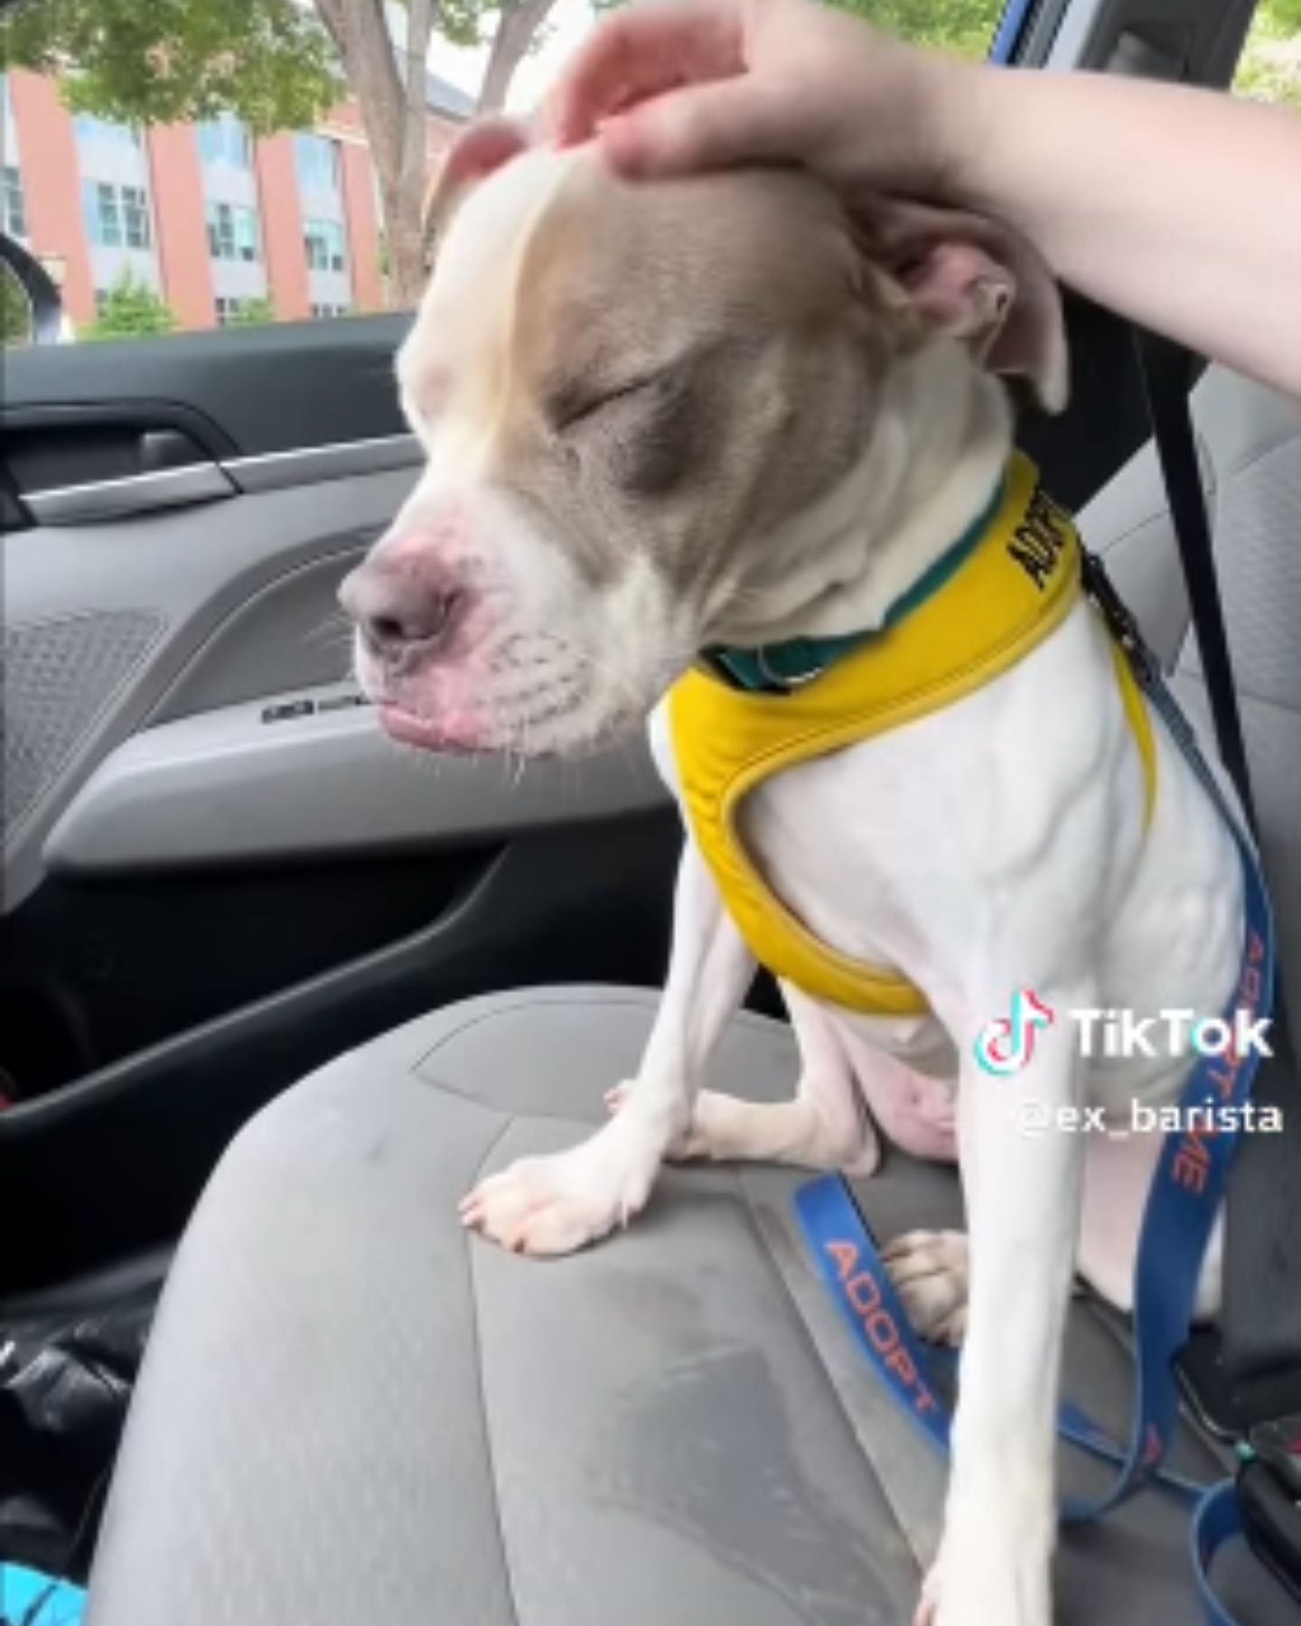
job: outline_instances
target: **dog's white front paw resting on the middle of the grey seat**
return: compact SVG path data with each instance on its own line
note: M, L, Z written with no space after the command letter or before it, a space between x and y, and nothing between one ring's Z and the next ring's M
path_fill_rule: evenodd
M659 1151L631 1119L550 1158L491 1174L460 1205L462 1224L512 1254L574 1254L646 1206Z

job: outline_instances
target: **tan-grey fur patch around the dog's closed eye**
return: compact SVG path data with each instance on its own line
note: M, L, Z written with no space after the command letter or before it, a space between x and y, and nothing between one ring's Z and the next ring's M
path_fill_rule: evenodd
M737 540L864 447L888 332L860 270L839 210L794 176L576 167L524 254L504 485L589 580L649 551L706 613Z

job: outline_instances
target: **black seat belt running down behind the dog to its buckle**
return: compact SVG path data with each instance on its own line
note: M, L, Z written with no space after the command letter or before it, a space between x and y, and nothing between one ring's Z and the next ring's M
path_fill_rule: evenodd
M1138 333L1138 366L1179 541L1220 756L1255 824L1247 751L1212 550L1197 439L1189 406L1192 358ZM1294 538L1301 546L1301 537ZM1281 979L1280 979L1281 984ZM1242 1135L1226 1198L1225 1307L1220 1359L1231 1382L1301 1384L1301 1075L1278 989L1275 1057L1257 1076L1257 1106L1275 1106L1281 1133ZM1288 1408L1291 1410L1291 1408Z

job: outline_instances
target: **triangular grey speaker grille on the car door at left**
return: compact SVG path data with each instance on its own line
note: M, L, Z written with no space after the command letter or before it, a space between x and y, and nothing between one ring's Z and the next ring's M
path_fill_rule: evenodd
M55 784L148 654L163 620L93 611L5 628L5 837Z

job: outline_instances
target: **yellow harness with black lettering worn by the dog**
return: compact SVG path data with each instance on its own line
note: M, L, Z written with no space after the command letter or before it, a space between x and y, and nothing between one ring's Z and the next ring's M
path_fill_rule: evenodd
M725 667L733 681L694 668L668 696L686 815L756 959L813 998L868 1015L920 1015L929 1005L896 971L838 953L795 919L742 846L737 810L755 785L784 767L940 711L1028 655L1080 598L1080 537L1070 515L1044 494L1034 465L1013 454L984 524L938 571L940 584L899 620L857 641L834 641L831 663L787 678L790 686L735 686L737 672L746 673L740 681L751 681L758 670L761 678L753 681L763 681L777 663L764 650L738 650L730 655L742 665ZM1151 720L1129 660L1119 646L1112 650L1150 816L1156 793Z

